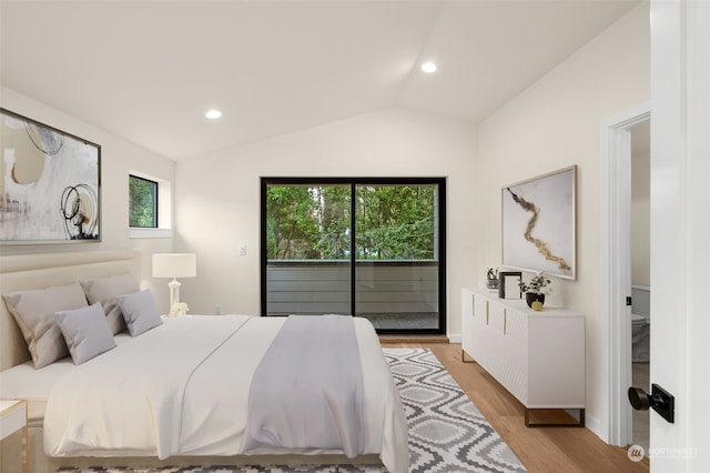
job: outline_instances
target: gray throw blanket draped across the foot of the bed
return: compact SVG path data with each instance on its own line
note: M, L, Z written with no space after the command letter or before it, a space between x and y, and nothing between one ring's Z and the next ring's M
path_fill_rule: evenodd
M243 451L364 450L363 372L353 319L291 315L254 372Z

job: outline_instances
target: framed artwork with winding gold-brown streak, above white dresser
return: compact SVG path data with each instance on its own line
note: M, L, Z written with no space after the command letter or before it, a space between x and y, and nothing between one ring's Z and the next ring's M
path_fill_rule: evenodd
M577 167L501 189L503 265L577 279Z

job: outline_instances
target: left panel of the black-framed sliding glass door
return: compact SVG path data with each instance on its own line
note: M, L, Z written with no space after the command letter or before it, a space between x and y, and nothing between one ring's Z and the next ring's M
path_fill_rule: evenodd
M262 203L262 313L349 314L351 185L270 181Z

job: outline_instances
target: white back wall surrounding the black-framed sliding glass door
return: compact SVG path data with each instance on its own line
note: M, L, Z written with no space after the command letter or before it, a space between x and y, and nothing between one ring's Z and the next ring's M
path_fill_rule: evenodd
M460 288L478 279L474 134L466 122L387 109L179 162L175 245L197 254L181 299L192 312L261 312L260 177L446 177L448 333L459 334Z

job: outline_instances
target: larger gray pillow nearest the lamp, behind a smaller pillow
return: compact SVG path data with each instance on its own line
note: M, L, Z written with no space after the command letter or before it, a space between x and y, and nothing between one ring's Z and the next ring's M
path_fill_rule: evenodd
M90 304L101 302L106 314L111 333L114 335L125 331L125 322L116 296L133 294L141 290L138 280L131 273L80 281Z

